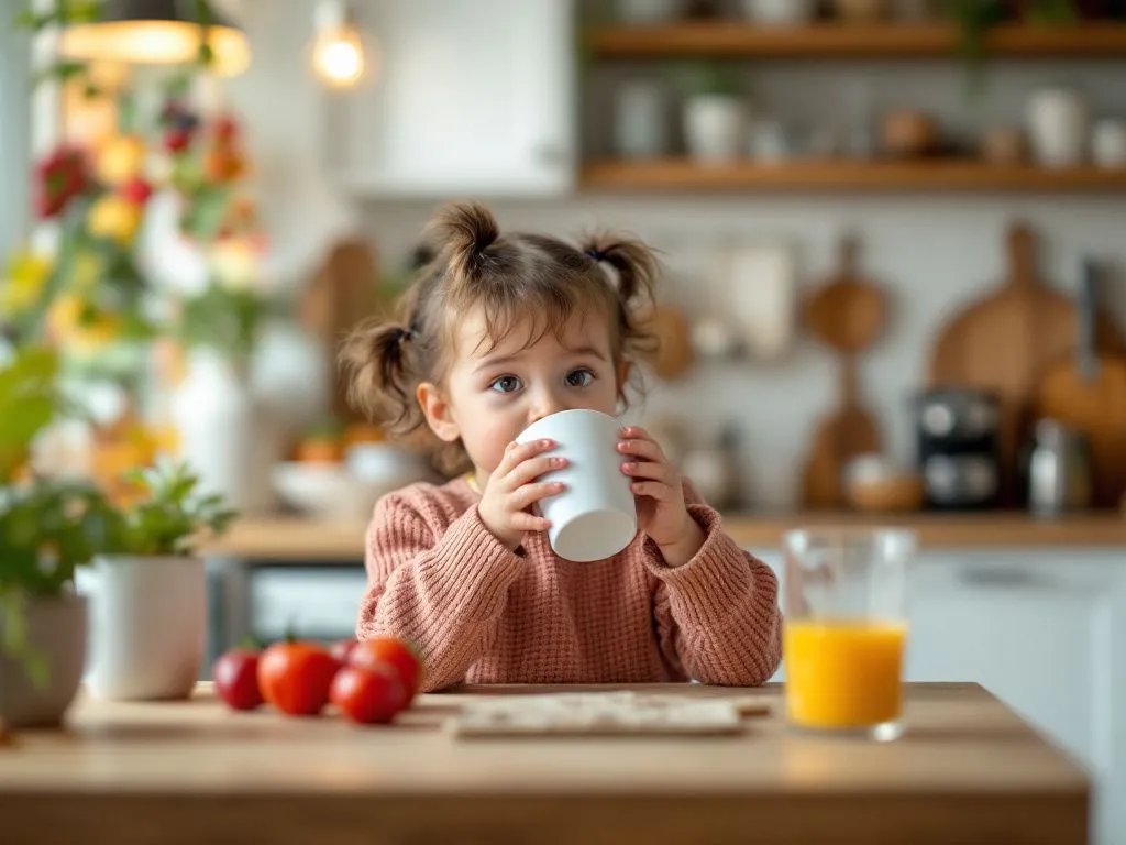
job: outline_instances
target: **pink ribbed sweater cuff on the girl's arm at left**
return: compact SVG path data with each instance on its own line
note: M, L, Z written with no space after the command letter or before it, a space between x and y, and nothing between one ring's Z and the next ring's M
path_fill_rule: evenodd
M525 561L501 543L476 507L449 525L441 541L441 595L435 606L464 607L473 620L495 616L504 606L509 587L520 577Z

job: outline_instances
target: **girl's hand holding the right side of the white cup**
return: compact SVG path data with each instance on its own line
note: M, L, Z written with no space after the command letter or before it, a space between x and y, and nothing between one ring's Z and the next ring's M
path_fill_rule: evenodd
M680 473L644 428L622 429L618 452L629 457L622 471L637 501L637 527L661 549L671 567L687 563L704 545L704 530L685 505Z

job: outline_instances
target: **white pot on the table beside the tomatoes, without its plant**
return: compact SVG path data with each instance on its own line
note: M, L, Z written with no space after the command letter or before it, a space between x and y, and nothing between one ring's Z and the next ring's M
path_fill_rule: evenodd
M207 640L202 558L106 555L80 572L90 598L86 684L99 699L186 699Z

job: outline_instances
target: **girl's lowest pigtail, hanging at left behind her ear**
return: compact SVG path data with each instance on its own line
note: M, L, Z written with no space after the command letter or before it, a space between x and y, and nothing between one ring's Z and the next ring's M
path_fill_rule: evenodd
M340 349L349 404L392 430L417 425L418 403L411 395L408 366L413 340L406 326L370 320L357 327Z

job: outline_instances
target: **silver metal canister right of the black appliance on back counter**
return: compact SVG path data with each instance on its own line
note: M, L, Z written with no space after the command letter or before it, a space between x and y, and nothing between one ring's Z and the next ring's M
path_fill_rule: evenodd
M1037 516L1057 516L1091 505L1091 459L1082 432L1058 420L1036 424L1028 462L1028 507Z

